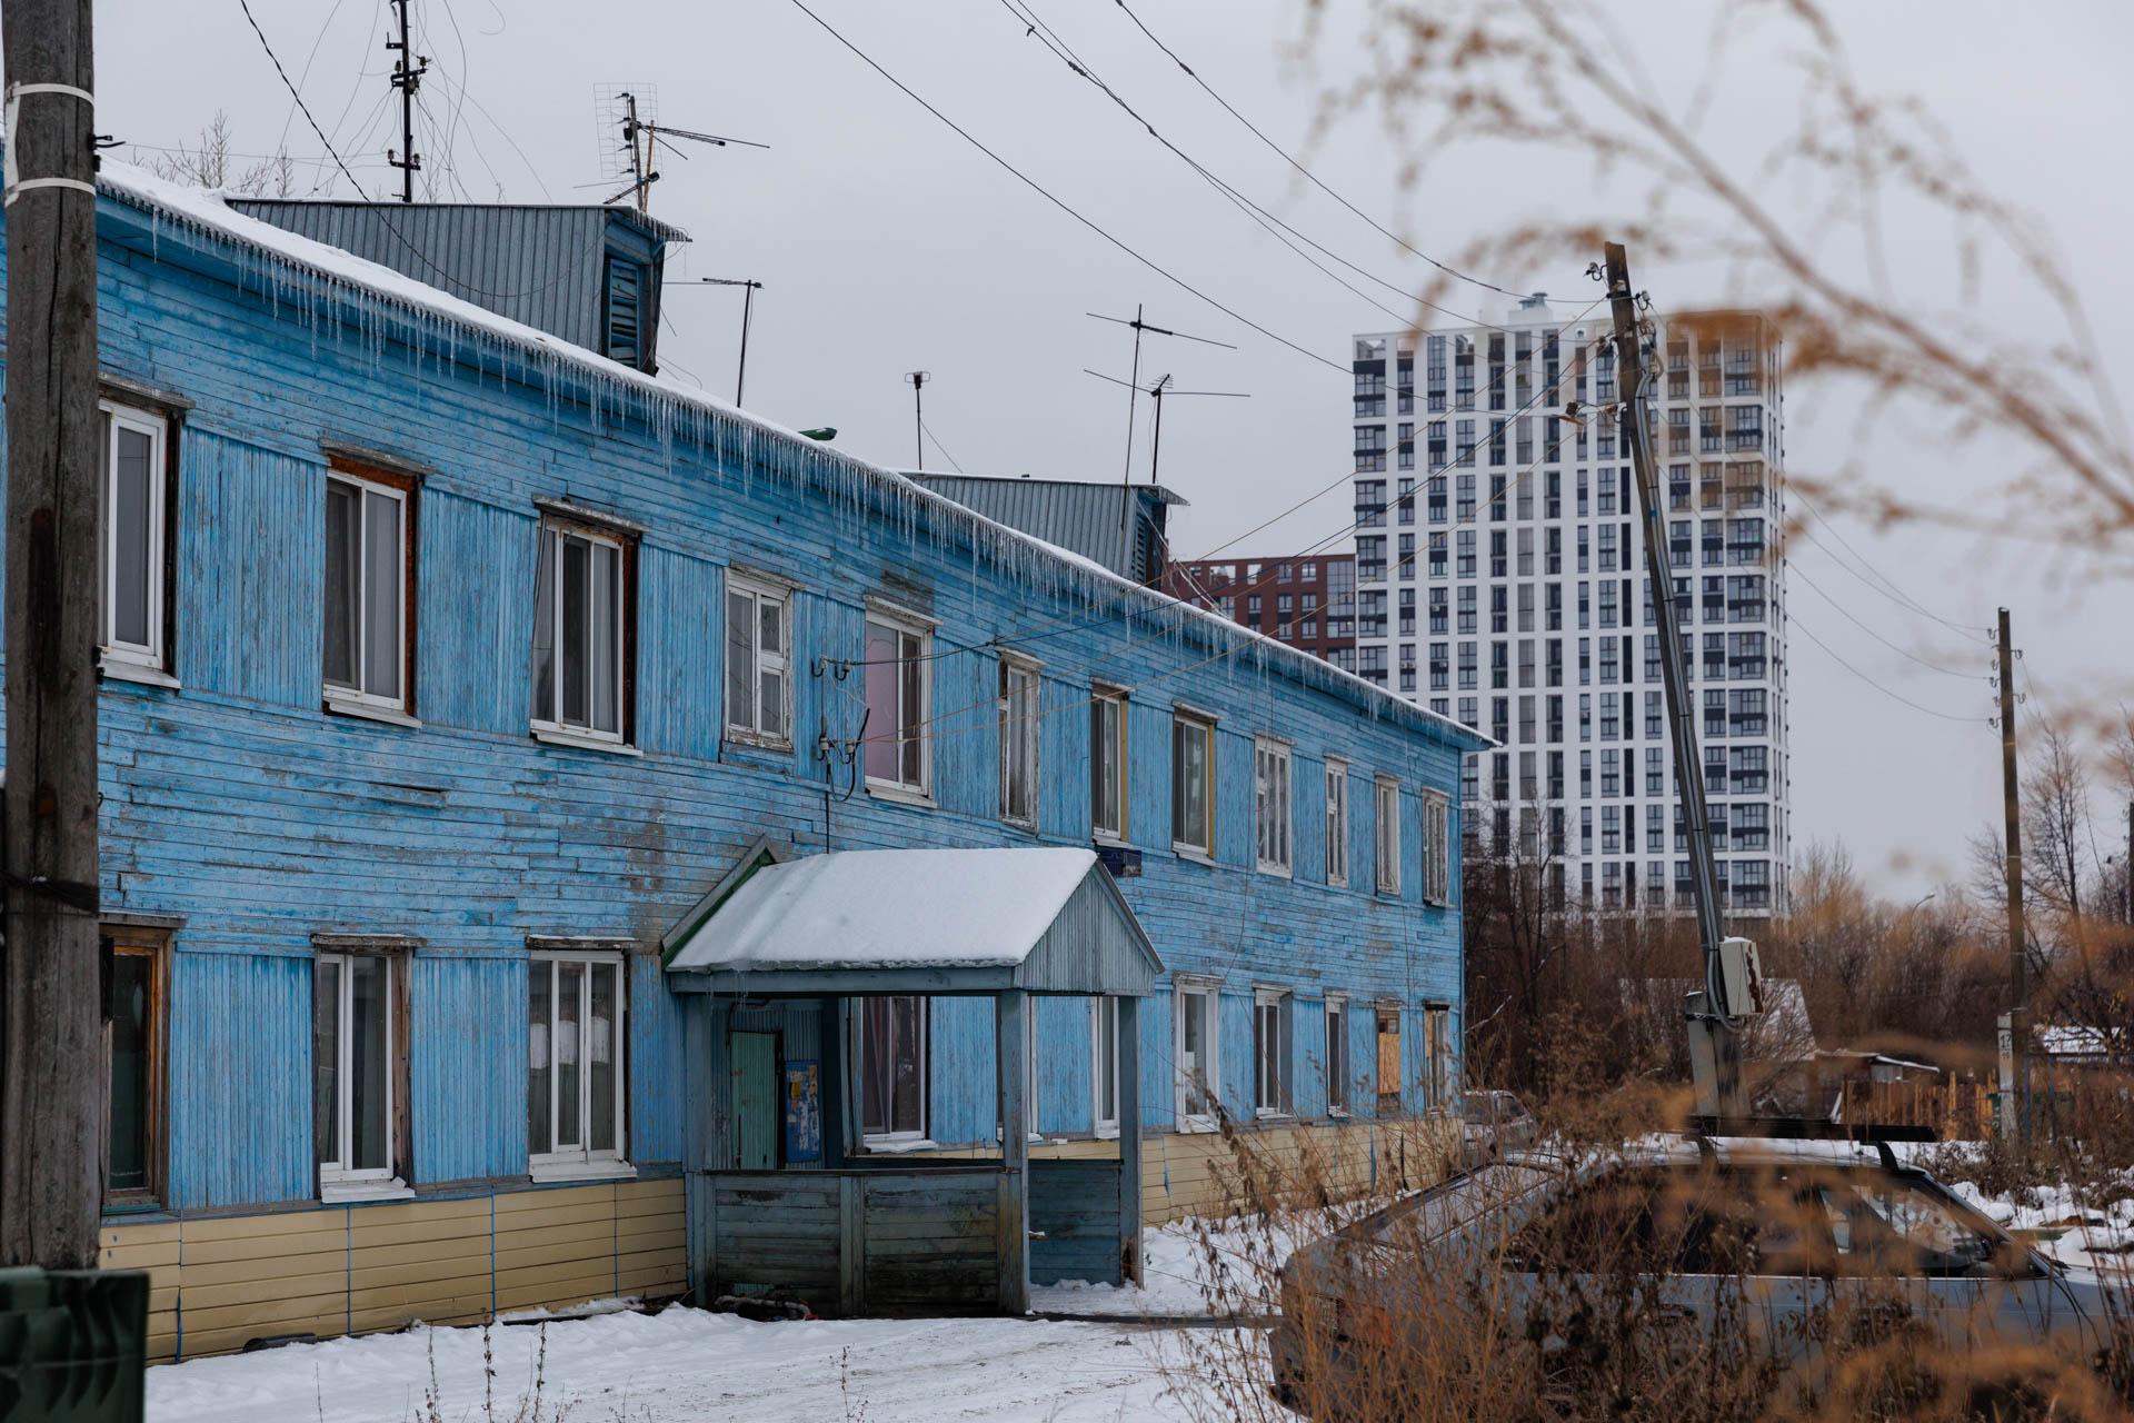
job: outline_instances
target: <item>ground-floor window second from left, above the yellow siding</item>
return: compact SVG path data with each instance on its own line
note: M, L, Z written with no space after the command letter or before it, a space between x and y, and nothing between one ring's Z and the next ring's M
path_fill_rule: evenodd
M312 1122L327 1201L410 1195L408 943L314 939Z

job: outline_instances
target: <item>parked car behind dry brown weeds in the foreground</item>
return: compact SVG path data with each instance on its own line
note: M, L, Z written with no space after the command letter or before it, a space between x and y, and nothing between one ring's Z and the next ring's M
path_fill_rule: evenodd
M1869 1310L1895 1310L1921 1344L2047 1344L2081 1361L2111 1318L2093 1274L2047 1261L1878 1148L1511 1152L1289 1257L1276 1395L1338 1417L1340 1400L1400 1387L1387 1376L1404 1353L1445 1348L1481 1314L1502 1323L1496 1338L1551 1350L1575 1333L1566 1318L1626 1301L1669 1329L1750 1340L1780 1370L1812 1361L1833 1318Z

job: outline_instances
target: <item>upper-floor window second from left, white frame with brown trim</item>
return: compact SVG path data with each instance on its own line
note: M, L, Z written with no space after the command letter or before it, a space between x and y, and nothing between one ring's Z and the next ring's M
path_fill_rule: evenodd
M414 480L327 474L327 702L414 706Z

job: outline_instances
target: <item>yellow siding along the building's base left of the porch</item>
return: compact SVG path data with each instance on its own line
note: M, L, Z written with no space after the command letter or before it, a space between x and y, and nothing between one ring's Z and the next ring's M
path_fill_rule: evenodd
M269 1216L107 1222L102 1263L149 1272L149 1359L280 1333L472 1325L685 1289L681 1180L510 1190Z

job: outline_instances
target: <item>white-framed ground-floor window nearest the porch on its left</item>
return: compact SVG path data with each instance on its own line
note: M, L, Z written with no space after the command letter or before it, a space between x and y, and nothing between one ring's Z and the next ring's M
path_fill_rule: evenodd
M625 964L612 949L527 956L527 1156L534 1176L615 1171L623 1139Z

